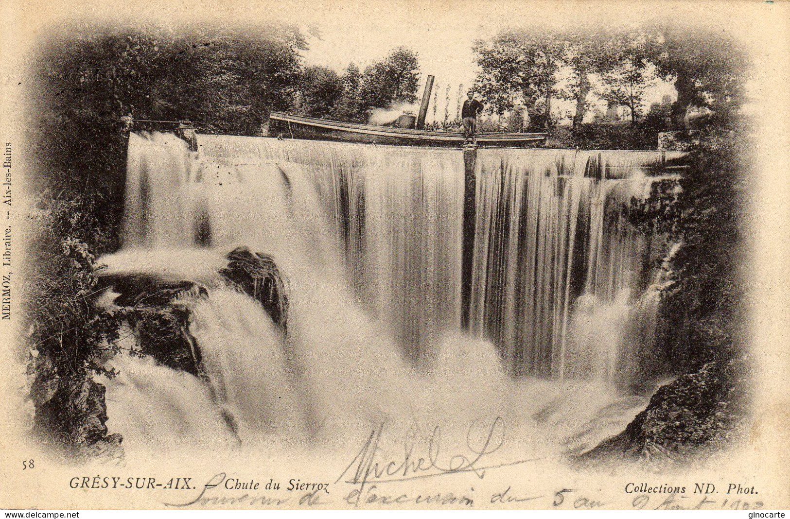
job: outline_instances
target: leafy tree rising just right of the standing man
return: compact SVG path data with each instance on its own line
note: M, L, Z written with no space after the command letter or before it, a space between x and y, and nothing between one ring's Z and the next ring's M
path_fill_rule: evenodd
M553 33L506 29L491 39L477 40L472 52L480 67L475 88L491 111L502 115L521 99L532 115L538 100L551 99L562 58L562 43Z

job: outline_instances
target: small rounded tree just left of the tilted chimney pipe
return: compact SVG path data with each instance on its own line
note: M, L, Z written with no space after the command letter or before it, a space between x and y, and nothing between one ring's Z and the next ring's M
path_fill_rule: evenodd
M368 66L359 85L364 108L386 108L393 103L415 103L419 88L419 62L414 51L397 47Z

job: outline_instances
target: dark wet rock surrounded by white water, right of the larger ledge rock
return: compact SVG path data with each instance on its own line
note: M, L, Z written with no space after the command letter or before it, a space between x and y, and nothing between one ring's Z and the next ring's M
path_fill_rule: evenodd
M274 260L259 252L253 253L245 246L238 247L226 256L228 266L220 270L220 276L236 290L257 299L283 330L288 321L288 279L285 278Z

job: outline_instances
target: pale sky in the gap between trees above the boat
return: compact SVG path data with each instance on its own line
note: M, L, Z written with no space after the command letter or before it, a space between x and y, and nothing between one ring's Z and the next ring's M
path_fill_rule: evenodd
M441 4L417 4L396 2L401 8L390 5L343 6L325 13L321 19L307 17L302 27L305 32L318 28L318 36L310 36L310 48L304 53L308 65L329 66L341 73L348 63L354 62L360 69L384 58L395 47L404 46L416 51L420 65L419 96L422 95L427 74L436 77L440 88L438 118L442 118L446 96L446 85L451 85L451 105L454 107L458 85L471 85L476 77L476 64L472 45L476 39L485 39L499 29L519 24L555 25L557 17L550 9L517 9L517 14L508 9L486 9L487 2L468 2L461 8L435 9L425 6ZM405 6L405 8L403 8ZM501 3L500 3L501 6ZM585 9L579 9L581 13ZM623 16L619 17L622 21ZM590 20L587 20L590 21ZM574 23L568 21L566 23ZM662 96L675 97L675 89L661 81L650 88L648 104L661 100ZM433 96L431 96L433 101ZM593 100L594 96L590 96ZM556 113L574 110L574 103L555 100ZM451 108L454 113L454 108ZM433 108L429 110L431 121ZM452 116L451 116L452 117Z

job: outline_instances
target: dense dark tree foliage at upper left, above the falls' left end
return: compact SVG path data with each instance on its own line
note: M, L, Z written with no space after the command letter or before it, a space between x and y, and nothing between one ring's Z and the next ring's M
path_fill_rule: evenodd
M243 32L153 26L66 28L45 51L45 81L55 83L55 109L74 106L91 122L189 118L198 128L254 134L269 108L288 106L299 80L299 30L273 25ZM112 120L112 119L111 119Z

